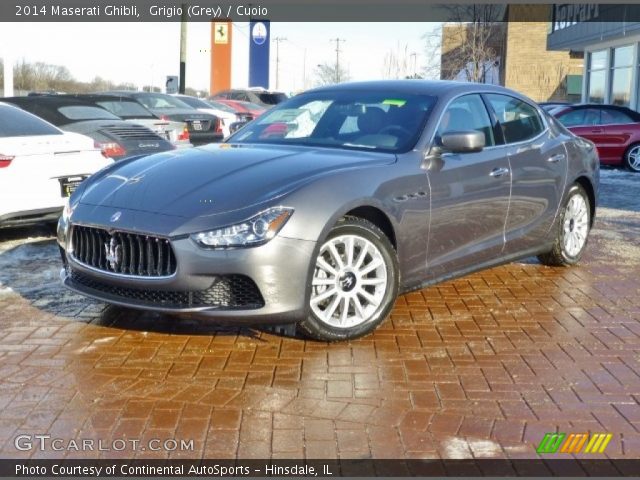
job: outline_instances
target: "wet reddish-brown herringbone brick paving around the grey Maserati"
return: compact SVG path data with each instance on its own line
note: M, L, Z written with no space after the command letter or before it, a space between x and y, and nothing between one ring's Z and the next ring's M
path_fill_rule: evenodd
M640 175L605 172L584 261L535 259L401 297L325 344L63 291L50 237L0 232L0 456L535 457L550 431L640 456ZM21 452L20 434L194 451Z

